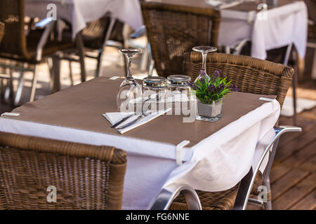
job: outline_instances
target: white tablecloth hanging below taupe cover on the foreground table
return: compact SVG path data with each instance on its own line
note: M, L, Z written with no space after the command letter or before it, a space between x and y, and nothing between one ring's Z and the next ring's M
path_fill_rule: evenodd
M162 186L169 184L185 183L208 191L235 186L254 164L256 146L273 132L278 117L279 103L266 102L192 148L183 148L185 163L180 166L176 164L176 146L172 144L9 118L0 118L0 131L109 145L127 151L123 209L148 209ZM258 158L260 155L256 154Z

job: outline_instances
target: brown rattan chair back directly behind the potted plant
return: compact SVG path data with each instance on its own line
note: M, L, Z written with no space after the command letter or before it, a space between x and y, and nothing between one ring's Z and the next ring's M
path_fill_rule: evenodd
M195 80L202 68L202 55L199 52L186 53L183 66L185 74ZM283 64L242 55L210 53L206 59L206 71L213 73L216 70L232 80L241 92L277 95L281 106L294 74L294 69Z

